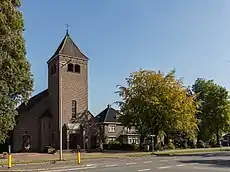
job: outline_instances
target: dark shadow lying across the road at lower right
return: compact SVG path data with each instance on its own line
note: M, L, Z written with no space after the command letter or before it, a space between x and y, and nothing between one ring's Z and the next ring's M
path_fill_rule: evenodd
M230 160L223 160L223 159L212 159L212 160L182 160L182 163L197 163L197 164L206 164L211 165L213 167L230 167Z

